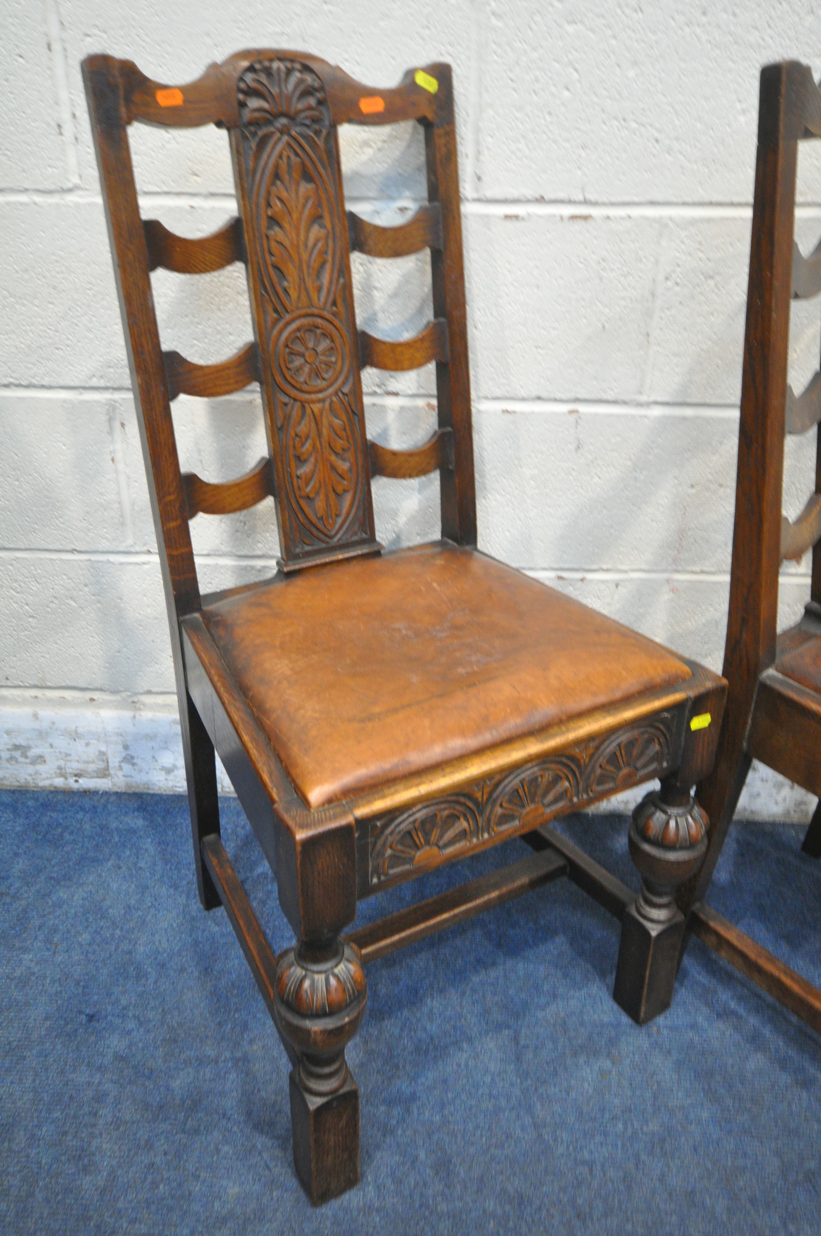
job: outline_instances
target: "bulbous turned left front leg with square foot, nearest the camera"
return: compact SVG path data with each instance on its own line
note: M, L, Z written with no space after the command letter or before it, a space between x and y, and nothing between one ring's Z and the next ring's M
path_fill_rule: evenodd
M359 1088L345 1047L366 1004L362 957L354 944L303 941L277 958L277 1025L296 1058L289 1079L293 1162L314 1205L360 1178Z

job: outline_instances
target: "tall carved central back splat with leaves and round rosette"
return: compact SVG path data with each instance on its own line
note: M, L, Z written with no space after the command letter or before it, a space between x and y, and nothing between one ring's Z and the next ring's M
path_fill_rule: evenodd
M257 61L237 90L260 351L270 361L283 551L292 557L372 536L338 154L324 87L307 66Z

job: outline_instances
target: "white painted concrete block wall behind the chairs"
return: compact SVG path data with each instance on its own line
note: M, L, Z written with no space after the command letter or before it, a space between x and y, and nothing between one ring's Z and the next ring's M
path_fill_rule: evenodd
M821 5L696 0L218 0L7 6L0 80L0 777L179 789L173 675L79 61L127 57L171 83L245 46L304 47L372 85L454 64L465 214L480 543L720 667L726 620L758 72L821 68ZM143 213L184 235L234 213L225 136L135 126ZM346 130L349 201L407 218L417 126ZM821 148L800 162L799 237L821 232ZM427 260L355 256L360 324L430 314ZM244 272L153 277L163 342L192 360L250 336ZM799 307L796 387L817 366ZM368 430L410 445L433 375L367 371ZM181 398L183 466L213 480L263 444L258 399ZM812 477L789 444L785 507ZM388 545L435 536L435 478L375 482ZM204 587L268 574L271 503L199 517ZM807 561L784 572L800 613ZM809 817L773 776L747 812Z

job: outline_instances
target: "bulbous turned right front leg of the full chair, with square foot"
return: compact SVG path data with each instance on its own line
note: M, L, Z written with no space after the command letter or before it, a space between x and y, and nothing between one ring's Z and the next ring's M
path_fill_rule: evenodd
M640 1026L670 1007L684 937L675 890L699 870L707 827L689 789L670 781L633 812L628 843L642 891L622 918L613 999Z

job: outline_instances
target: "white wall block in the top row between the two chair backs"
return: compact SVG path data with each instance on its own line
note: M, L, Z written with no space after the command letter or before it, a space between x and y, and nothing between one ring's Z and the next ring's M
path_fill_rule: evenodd
M790 0L746 19L697 0L495 0L481 37L477 193L752 201L760 66L801 48L811 58L811 28ZM820 199L817 168L805 193Z

